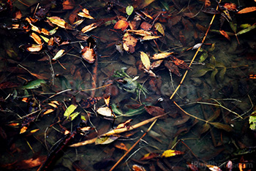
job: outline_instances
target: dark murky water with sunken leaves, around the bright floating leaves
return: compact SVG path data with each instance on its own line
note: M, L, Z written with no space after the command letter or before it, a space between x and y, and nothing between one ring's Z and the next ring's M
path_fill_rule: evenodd
M26 4L25 1L23 2ZM220 5L224 5L225 2L227 1ZM120 1L112 3L76 1L73 9L65 10L60 1L41 1L39 7L45 8L47 4L50 6L48 6L49 11L45 15L42 14L39 21L33 23L39 28L50 31L55 27L46 22L46 17L50 16L59 16L67 23L71 23L70 15L79 5L89 9L90 15L95 19L85 19L75 29L59 28L56 34L53 34L56 36L56 42L60 39L59 44L61 44L68 40L69 44L55 43L53 46L48 46L44 42L42 50L34 53L27 52L21 48L23 46L20 46L35 44L34 40L29 37L33 32L28 30L31 25L25 18L33 18L38 2L31 1L30 3L24 5L15 1L12 12L4 2L1 3L3 10L0 13L0 121L3 144L1 145L1 167L3 170L37 170L48 153L55 153L65 142L64 139L69 139L70 135L64 135L64 130L67 129L74 133L81 123L83 123L82 126L94 127L97 132L91 129L85 135L78 133L75 138L70 139L69 144L90 140L130 118L133 119L131 125L145 121L152 115L143 110L143 105L161 107L161 111L168 113L167 117L158 119L151 132L143 137L143 140L123 159L116 170L131 170L133 164L143 165L146 170L154 170L154 168L155 170L189 170L187 164L190 163L199 167L200 170L207 170L206 164L219 166L225 170L228 160L233 161L236 167L234 170L238 170L239 161L246 163L244 170L252 170L255 132L249 128L248 120L253 111L252 106L255 104L255 80L249 78L249 75L256 74L256 29L244 34L240 32L237 37L230 34L230 40L217 31L221 28L233 33L229 24L233 23L234 26L237 25L236 33L239 33L244 29L243 24L251 26L255 24L255 12L240 15L230 12L232 21L228 22L224 18L223 24L220 21L223 12L222 15L216 15L205 44L200 48L184 83L170 100L170 96L187 69L179 68L181 77L178 77L174 72L170 74L167 67L161 64L156 69L152 69L157 77L151 77L141 69L140 51L148 53L149 56L155 53L174 52L173 56L189 64L196 53L196 49L191 50L189 47L202 42L213 17L212 14L201 11L205 9L202 1L154 1L147 6L144 5L146 7L143 7L142 1L125 1L124 3ZM217 3L211 3L211 7L215 9ZM255 6L255 3L249 4L247 1L233 1L233 3L240 6L238 9ZM140 40L141 36L131 34L138 39L135 52L127 53L123 50L123 53L119 53L116 45L123 42L126 31L113 27L118 18L128 17L125 7L129 4L135 7L137 13L133 12L127 20L132 21L136 14L141 15L145 20L140 18L138 26L143 21L150 23L151 31L161 38L143 41ZM4 10L4 8L7 9ZM18 9L23 14L22 18L13 20L12 16ZM78 9L78 12L80 11ZM153 20L146 18L143 12L153 16ZM15 23L20 24L20 27L28 27L28 29L14 29L12 24ZM91 23L100 23L100 25L81 34L81 29ZM163 27L165 35L154 28L155 23ZM48 39L53 37L40 35ZM91 40L86 42L80 39L81 35L91 37ZM97 53L97 61L89 64L81 58L81 45L86 47L94 41L96 41L94 50ZM65 50L67 54L58 61L49 61L49 58L53 58L59 50ZM202 60L203 56L208 57ZM165 61L168 60L170 61L169 58L165 59ZM113 77L116 71L121 72L122 69L124 69L123 75ZM206 71L208 72L204 75ZM95 73L97 73L96 80L93 78ZM136 76L139 76L138 79L132 80ZM22 88L27 82L30 83L38 78L45 80L39 88ZM108 86L109 83L113 84ZM146 88L148 93L143 94L141 86ZM91 88L97 89L92 91ZM58 92L62 93L52 96ZM108 94L110 94L113 112L117 116L114 125L113 118L104 118L96 112L105 104L103 99L89 108L84 107L84 102L89 97L102 97ZM29 102L23 102L24 97L28 97ZM53 100L59 102L58 107L53 108L49 105ZM187 113L199 119L183 113L173 101ZM78 106L75 112L80 112L80 114L73 121L64 121L64 112L70 104ZM142 106L136 108L135 104L137 107L138 104ZM131 116L118 115L115 106L122 113ZM49 109L54 109L54 111L43 115ZM138 112L138 114L132 115L131 111L132 113ZM159 110L154 109L154 111L155 115L159 115ZM205 121L202 120L212 123L207 123L206 126ZM19 123L19 125L13 126L12 123ZM20 134L23 126L28 129ZM110 170L125 153L124 150L118 148L118 145L124 143L127 148L130 148L149 126L147 124L131 131L132 135L121 134L118 140L106 145L92 143L78 148L68 147L68 144L64 145L65 148L61 148L61 153L56 154L51 170L78 170L78 168L80 170ZM208 127L210 129L206 130ZM34 130L37 132L31 132ZM139 161L146 153L161 155L163 151L172 147L184 154ZM54 149L56 149L55 152ZM31 159L30 165L36 163L33 159L42 159L42 161L31 169L24 164L24 160L29 159Z

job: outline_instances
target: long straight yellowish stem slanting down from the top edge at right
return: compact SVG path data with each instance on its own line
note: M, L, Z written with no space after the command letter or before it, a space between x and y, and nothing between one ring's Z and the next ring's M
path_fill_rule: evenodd
M220 3L221 1L222 1L222 0L219 0L219 3ZM218 7L219 7L219 6L218 6ZM218 7L217 7L217 9L218 9ZM210 30L210 28L211 28L212 23L214 22L215 16L216 16L216 15L214 15L214 16L211 18L211 22L210 22L210 24L209 24L209 26L208 26L208 29L207 29L207 31L206 31L206 34L205 34L205 36L203 37L202 44L203 44L203 42L205 42L206 36L207 36L207 34L208 34L208 32L209 32L209 30ZM189 64L189 67L192 65L192 63L193 63L193 61L195 60L195 57L197 56L197 53L200 51L200 48L201 48L201 47L202 47L202 46L198 47L198 49L197 49L197 51L196 51L196 53L195 53L195 56L192 58L192 60L191 60L191 62L190 62L190 64ZM178 91L178 89L181 87L181 84L183 83L185 77L187 76L187 72L188 72L188 71L189 71L189 70L187 70L187 71L184 73L184 75L183 75L183 77L182 77L182 79L181 79L181 82L179 83L179 85L177 86L177 88L176 88L176 90L173 92L173 94L170 96L170 99L173 99L173 96L176 94L176 92Z

